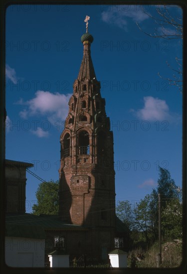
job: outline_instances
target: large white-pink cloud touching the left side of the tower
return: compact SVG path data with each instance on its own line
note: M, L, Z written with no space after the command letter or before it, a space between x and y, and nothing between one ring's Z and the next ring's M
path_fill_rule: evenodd
M20 99L16 104L24 105L19 116L26 119L30 116L46 116L48 121L54 124L57 121L65 120L68 114L68 102L71 94L50 93L39 90L35 97L26 102Z

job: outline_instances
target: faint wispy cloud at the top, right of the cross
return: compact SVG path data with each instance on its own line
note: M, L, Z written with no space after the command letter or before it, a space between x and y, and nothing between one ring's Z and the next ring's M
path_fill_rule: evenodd
M124 28L126 31L128 24L127 18L131 18L133 21L140 23L149 18L149 15L138 5L129 5L127 7L119 5L118 8L110 5L106 11L101 13L101 19L104 22L115 24L118 27Z

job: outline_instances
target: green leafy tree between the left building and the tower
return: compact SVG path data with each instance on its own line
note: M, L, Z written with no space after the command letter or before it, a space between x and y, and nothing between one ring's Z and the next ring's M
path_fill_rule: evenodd
M39 184L36 191L37 204L32 206L34 215L58 215L59 210L59 181L48 181Z

